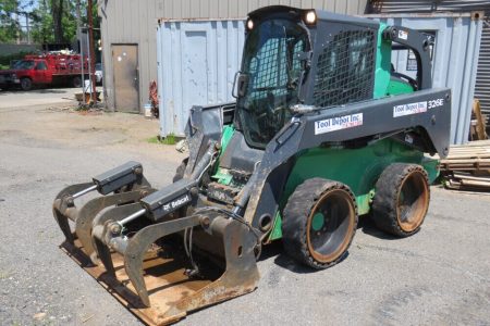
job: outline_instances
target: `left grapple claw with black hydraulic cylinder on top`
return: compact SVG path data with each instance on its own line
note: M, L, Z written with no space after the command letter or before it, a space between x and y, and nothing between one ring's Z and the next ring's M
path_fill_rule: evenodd
M95 190L102 196L88 200L79 208L76 205L77 199ZM152 191L155 189L143 176L142 164L127 162L94 177L91 183L64 188L56 197L52 212L66 238L65 243L73 246L77 239L85 254L94 255L91 225L96 215L112 205L137 202ZM75 224L75 233L69 221Z

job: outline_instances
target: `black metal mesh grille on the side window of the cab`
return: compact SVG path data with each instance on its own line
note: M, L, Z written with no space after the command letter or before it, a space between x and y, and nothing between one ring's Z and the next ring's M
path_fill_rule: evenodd
M372 98L375 33L344 30L318 57L314 103L332 106Z

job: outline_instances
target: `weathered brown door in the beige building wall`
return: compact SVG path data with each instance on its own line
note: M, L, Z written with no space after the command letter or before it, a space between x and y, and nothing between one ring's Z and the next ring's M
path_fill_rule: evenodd
M112 45L115 110L139 113L138 46Z

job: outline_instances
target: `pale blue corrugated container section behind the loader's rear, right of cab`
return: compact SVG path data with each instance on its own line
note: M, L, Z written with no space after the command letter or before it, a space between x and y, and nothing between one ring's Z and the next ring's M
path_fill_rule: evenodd
M478 53L481 37L479 18L470 13L380 14L368 15L389 25L405 26L436 35L432 53L433 87L452 89L451 143L468 140L471 104L475 91ZM392 57L395 70L409 71L408 51Z

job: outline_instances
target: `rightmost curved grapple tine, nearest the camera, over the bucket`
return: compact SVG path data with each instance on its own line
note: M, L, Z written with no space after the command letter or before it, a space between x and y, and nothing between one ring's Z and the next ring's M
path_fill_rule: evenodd
M150 225L131 238L124 253L124 267L143 304L146 306L150 306L148 291L143 278L143 258L146 251L156 240L196 225L199 225L199 215Z

